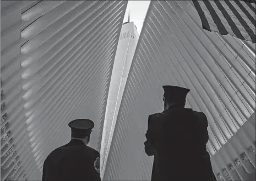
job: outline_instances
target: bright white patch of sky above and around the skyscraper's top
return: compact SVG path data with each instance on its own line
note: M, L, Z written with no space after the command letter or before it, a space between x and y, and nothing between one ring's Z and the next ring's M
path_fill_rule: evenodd
M148 11L150 1L128 1L126 14L124 15L123 22L128 20L128 12L130 10L130 21L133 21L140 34L143 21Z

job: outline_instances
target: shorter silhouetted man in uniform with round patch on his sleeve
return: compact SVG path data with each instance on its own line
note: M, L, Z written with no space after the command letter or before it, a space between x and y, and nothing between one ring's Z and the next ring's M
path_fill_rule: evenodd
M52 151L43 164L43 181L100 181L100 153L87 146L94 122L70 122L71 141Z

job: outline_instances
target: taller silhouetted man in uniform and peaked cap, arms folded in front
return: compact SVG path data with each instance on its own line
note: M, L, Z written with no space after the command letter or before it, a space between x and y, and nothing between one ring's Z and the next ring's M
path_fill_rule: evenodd
M145 152L154 155L151 180L216 180L206 150L204 113L184 108L189 89L163 86L164 112L149 116Z

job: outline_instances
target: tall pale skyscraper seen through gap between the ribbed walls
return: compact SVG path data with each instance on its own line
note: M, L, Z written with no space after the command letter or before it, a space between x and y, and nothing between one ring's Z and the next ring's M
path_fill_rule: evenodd
M105 114L104 129L101 142L101 177L104 175L108 152L110 151L113 130L115 128L124 86L132 63L139 34L133 22L124 23L119 36L117 52L110 81L110 90Z

